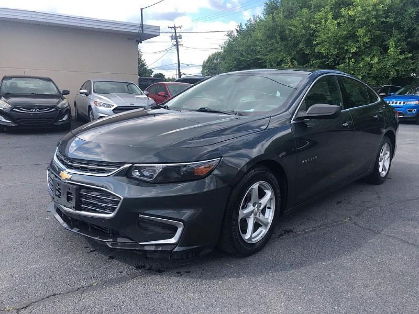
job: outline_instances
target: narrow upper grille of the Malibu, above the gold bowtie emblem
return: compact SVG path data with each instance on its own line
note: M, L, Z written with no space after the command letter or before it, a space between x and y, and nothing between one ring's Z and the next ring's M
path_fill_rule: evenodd
M78 172L84 172L86 174L106 175L118 170L120 167L123 166L122 164L115 162L98 162L70 158L64 156L64 154L59 152L58 149L55 154L55 157L67 170L75 170Z

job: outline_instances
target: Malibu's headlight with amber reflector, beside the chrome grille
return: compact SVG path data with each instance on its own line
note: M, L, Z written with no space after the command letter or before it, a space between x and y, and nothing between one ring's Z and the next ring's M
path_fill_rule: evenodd
M133 165L128 170L128 177L151 183L197 180L207 177L220 160L221 158L178 164Z

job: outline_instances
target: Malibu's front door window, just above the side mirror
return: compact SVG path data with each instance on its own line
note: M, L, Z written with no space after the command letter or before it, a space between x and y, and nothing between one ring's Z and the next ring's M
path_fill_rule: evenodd
M300 110L307 111L308 108L316 103L342 106L339 84L334 75L322 77L314 83L307 96L305 96Z

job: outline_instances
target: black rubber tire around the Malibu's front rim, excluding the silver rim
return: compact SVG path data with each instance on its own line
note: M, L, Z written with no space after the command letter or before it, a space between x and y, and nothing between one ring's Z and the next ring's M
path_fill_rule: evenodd
M245 193L247 192L248 188L251 187L254 183L258 181L265 181L271 185L272 189L274 190L275 194L275 213L274 219L272 221L271 226L269 227L268 232L265 234L264 238L261 239L259 242L256 243L247 243L241 237L239 224L238 224L238 214L240 211L240 205ZM238 183L238 185L233 188L233 192L230 196L230 200L228 202L228 224L227 228L229 228L229 233L231 237L232 244L234 245L236 254L239 256L247 256L251 255L255 252L261 250L265 245L266 242L269 241L269 238L272 236L272 233L275 229L276 221L279 216L280 212L280 203L281 203L281 196L280 196L280 188L278 180L275 178L274 174L266 167L256 167L250 170L243 179Z

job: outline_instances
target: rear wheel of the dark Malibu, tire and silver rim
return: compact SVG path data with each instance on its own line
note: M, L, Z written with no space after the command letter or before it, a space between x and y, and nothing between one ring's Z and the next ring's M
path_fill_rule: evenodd
M391 161L393 158L393 145L387 136L381 140L377 157L375 158L372 173L365 178L371 184L383 184L390 173Z

